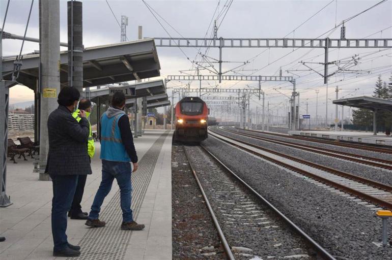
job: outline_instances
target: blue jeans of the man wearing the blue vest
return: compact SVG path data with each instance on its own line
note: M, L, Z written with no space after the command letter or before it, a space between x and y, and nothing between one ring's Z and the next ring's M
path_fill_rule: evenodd
M93 205L89 214L89 219L98 219L103 200L110 192L111 184L116 179L120 187L120 205L123 211L123 221L133 221L131 200L132 200L132 183L131 183L131 164L121 161L102 160L102 181L98 191L95 194Z

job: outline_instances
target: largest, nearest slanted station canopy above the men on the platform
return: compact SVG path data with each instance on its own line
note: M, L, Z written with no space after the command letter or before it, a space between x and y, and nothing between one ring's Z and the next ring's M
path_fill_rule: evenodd
M17 82L36 89L39 54L22 59ZM60 83L68 85L68 51L60 53ZM3 76L11 80L15 57L3 60ZM160 76L160 64L154 39L89 47L83 50L83 87L139 80ZM15 84L14 84L15 85Z

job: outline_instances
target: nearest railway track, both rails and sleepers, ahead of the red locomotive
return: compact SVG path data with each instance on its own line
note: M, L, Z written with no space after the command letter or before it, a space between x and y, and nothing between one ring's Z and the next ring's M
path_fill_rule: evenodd
M235 255L241 258L253 254L256 257L255 253L260 253L260 250L265 250L264 252L269 250L270 253L276 253L275 247L282 246L282 243L278 243L281 240L291 242L298 240L300 242L298 244L294 243L295 246L293 246L293 243L283 243L293 246L293 248L286 249L285 255L266 254L266 256L273 256L273 258L277 257L279 259L281 257L335 259L204 146L194 147L193 151L191 151L192 158L188 155L187 149L190 148L183 146L189 167L203 194L228 259L235 259ZM194 149L200 149L200 151L195 151ZM205 165L204 167L208 166L208 170L205 172L198 172L197 166L194 166L193 160L195 160L194 157L198 156L195 155L198 152L203 156L201 160ZM208 174L210 174L209 178ZM201 179L199 179L198 175L201 176ZM207 188L205 189L203 185L207 186ZM211 199L211 202L209 199ZM214 212L213 208L218 210ZM223 224L220 224L218 219L221 219ZM298 237L295 237L292 232L288 232L288 229L294 231ZM222 230L225 230L227 233L231 233L233 230L235 232L231 236L229 234L227 238ZM262 236L266 236L266 238L262 238ZM240 243L241 240L251 244L248 240L255 238L262 239L263 243L260 243L258 240L253 245L264 247L264 249L229 245L229 242ZM265 247L271 248L266 249ZM287 254L287 252L290 253ZM308 254L308 252L310 253ZM317 252L317 255L314 252ZM255 259L259 258L256 257Z

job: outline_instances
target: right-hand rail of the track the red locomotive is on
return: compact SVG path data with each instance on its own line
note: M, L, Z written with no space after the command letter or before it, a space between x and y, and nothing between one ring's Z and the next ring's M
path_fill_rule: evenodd
M291 221L286 215L279 211L275 206L273 206L267 199L265 199L261 194L259 194L254 188L247 184L241 179L237 174L230 170L225 164L222 163L211 151L209 151L204 145L200 145L212 158L214 158L220 166L227 170L231 175L233 175L239 182L241 182L251 193L253 193L257 198L259 198L268 208L270 208L275 214L281 217L292 229L298 232L308 243L310 243L317 252L319 252L325 260L336 260L328 251L326 251L320 244L313 240L309 235L307 235L299 226L297 226L293 221Z

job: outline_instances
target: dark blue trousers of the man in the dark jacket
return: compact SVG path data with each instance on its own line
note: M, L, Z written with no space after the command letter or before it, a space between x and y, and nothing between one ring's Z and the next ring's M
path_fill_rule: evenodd
M52 236L53 251L60 251L68 246L67 213L71 209L78 175L50 175L53 182L52 199Z

